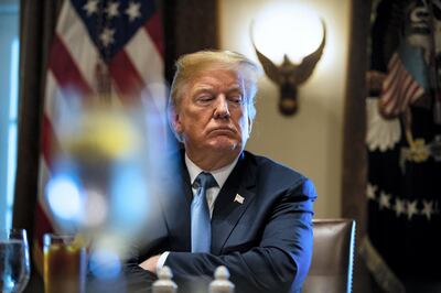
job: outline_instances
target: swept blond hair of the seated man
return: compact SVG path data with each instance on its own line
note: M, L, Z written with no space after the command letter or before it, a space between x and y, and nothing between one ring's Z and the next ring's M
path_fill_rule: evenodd
M225 68L240 74L245 85L245 105L248 118L252 121L256 117L255 99L257 94L257 78L260 75L259 66L244 56L232 51L198 51L181 56L176 63L176 72L170 90L169 107L178 110L186 86L201 73L215 68ZM174 131L174 128L172 127ZM181 138L175 133L176 138Z

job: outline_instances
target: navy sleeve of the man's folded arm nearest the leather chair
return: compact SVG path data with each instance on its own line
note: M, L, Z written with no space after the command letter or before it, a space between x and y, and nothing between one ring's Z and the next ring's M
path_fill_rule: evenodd
M186 287L205 286L218 265L225 265L236 292L297 292L312 257L312 216L315 191L311 181L282 192L268 211L260 241L245 252L171 252L165 261L174 279ZM189 290L190 286L190 290ZM197 289L196 289L197 290Z

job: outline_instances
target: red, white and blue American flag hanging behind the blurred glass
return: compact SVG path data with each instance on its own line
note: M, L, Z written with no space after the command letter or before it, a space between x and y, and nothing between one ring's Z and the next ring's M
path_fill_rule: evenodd
M49 53L42 123L34 258L42 268L42 235L56 230L44 188L60 148L60 120L69 113L72 93L111 104L147 99L157 113L166 105L162 24L153 0L65 0Z

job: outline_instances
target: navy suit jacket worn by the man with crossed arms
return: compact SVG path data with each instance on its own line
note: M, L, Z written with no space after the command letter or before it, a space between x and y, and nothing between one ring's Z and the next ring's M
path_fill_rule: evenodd
M148 287L151 274L138 263L171 251L165 265L171 268L180 292L206 286L218 265L228 268L237 293L300 291L312 257L316 197L312 182L244 151L214 205L211 253L191 253L193 193L182 152L180 156L181 175L164 181L179 186L179 192L161 199L162 215L154 232L125 268L129 283ZM235 200L237 194L244 197L243 203Z

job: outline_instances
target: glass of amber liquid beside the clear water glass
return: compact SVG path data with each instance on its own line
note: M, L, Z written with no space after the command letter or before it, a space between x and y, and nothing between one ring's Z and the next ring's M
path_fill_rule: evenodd
M45 234L44 292L85 293L86 249L74 235Z

